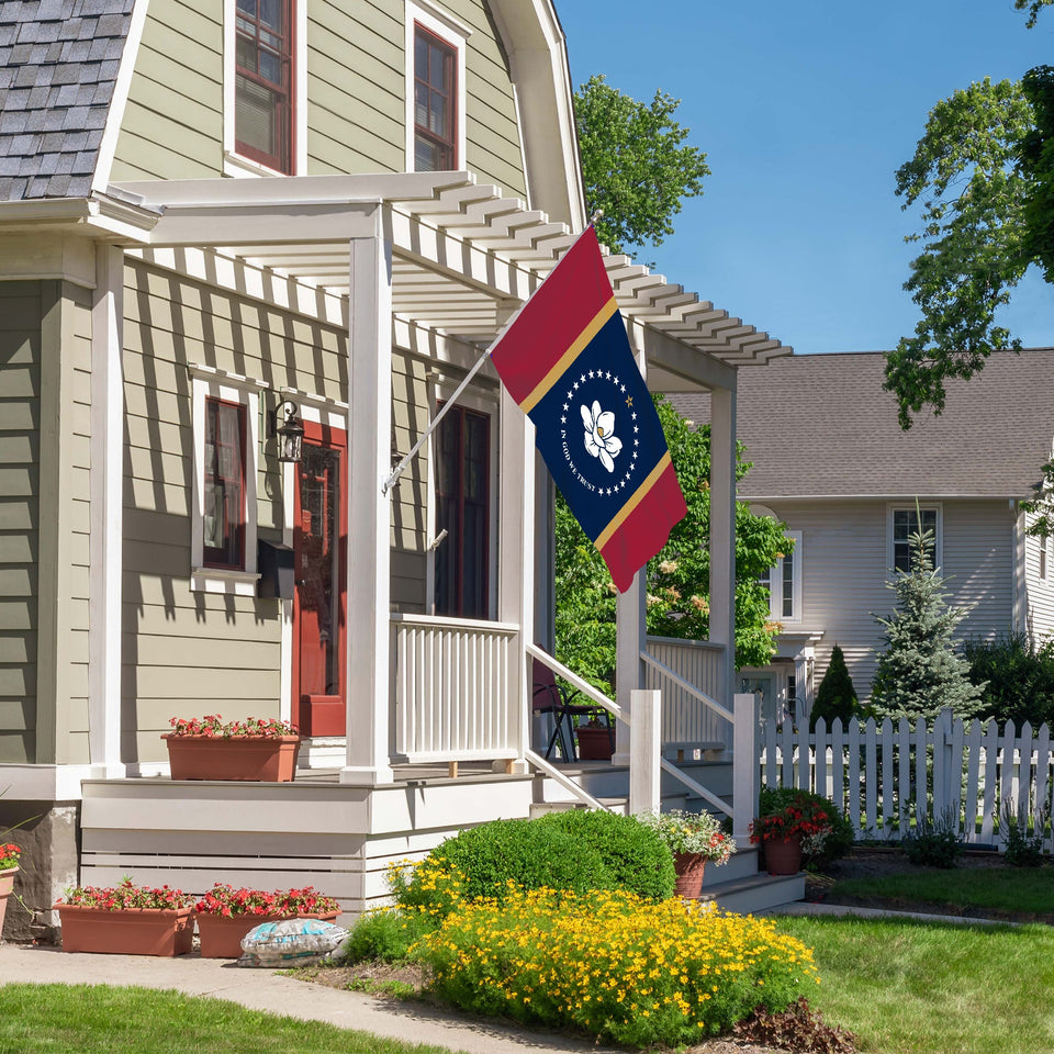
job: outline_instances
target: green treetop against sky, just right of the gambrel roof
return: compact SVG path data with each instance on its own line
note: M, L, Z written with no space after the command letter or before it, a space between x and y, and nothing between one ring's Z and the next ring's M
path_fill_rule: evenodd
M673 117L681 104L657 91L651 104L624 96L603 75L574 96L582 177L590 211L604 210L596 233L613 253L661 245L685 198L703 193L706 155L683 146L688 128Z

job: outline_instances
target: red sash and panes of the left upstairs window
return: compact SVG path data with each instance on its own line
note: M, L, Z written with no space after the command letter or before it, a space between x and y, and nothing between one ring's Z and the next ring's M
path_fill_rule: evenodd
M237 0L235 149L292 175L293 0Z

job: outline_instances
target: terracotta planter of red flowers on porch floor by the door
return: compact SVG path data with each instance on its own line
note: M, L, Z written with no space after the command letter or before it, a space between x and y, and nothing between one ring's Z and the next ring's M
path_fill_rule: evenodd
M273 718L224 721L218 714L173 717L168 744L172 780L238 780L289 783L296 774L300 733Z

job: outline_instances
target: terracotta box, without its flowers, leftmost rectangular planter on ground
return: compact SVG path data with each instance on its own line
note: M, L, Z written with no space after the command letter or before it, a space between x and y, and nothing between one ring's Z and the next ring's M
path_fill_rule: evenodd
M193 946L194 909L128 908L104 911L56 904L64 952L117 955L187 955Z

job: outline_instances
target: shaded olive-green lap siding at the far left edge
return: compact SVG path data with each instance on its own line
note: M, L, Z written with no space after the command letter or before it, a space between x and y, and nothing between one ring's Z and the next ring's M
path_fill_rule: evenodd
M35 760L41 283L0 282L0 762Z

